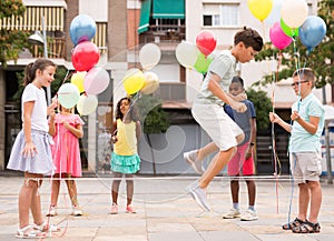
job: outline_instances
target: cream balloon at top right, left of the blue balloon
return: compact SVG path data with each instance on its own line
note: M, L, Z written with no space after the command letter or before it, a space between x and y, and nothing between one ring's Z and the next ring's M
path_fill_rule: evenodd
M305 0L285 0L282 3L281 17L289 28L298 28L303 24L308 13Z

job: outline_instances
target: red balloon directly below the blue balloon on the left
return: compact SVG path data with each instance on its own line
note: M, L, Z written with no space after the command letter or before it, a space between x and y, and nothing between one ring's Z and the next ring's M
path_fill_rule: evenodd
M100 51L90 41L84 41L72 51L72 64L77 71L89 71L100 59Z

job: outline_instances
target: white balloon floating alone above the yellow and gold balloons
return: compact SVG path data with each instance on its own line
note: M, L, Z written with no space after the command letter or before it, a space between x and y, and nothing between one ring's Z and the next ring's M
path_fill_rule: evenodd
M139 51L139 62L144 70L150 70L158 64L161 51L155 43L145 44Z

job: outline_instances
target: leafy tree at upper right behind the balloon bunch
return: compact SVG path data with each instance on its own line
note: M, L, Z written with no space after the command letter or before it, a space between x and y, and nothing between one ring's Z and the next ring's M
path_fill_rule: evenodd
M317 16L326 23L327 30L324 40L314 50L307 52L306 47L296 38L288 48L283 50L284 54L281 54L272 43L267 43L265 50L256 59L274 58L277 60L282 58L282 66L286 68L278 72L278 76L266 76L255 84L265 86L273 81L286 79L295 71L296 66L313 69L317 77L316 88L326 83L334 83L334 0L321 0Z

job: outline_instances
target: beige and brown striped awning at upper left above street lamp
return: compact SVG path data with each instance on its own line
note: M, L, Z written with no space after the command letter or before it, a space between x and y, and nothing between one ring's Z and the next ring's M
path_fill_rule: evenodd
M26 7L23 17L11 17L0 19L0 29L8 30L42 30L42 20L46 20L47 31L63 31L65 8L63 7Z

